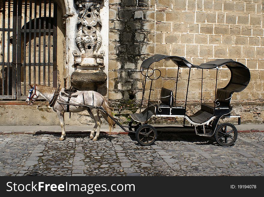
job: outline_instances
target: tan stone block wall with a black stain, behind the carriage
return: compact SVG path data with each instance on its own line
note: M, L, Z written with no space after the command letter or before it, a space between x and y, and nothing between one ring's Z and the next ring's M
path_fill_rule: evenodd
M120 106L120 102L138 104L144 85L140 65L153 54L183 56L196 65L214 59L241 62L250 69L251 80L244 91L233 94L232 103L240 102L244 109L241 113L245 113L248 105L245 102L250 101L255 108L263 101L262 1L110 0L109 3L109 100L113 106ZM161 78L152 87L155 99L161 87L175 90L177 67L171 61L154 66L161 68ZM188 69L179 72L177 100L184 100ZM216 70L205 71L203 76L202 94L214 100ZM217 88L225 87L230 79L229 70L220 69L217 78ZM150 81L146 87L150 87ZM199 102L200 89L201 71L191 69L188 100ZM252 118L252 122L263 123L263 119Z

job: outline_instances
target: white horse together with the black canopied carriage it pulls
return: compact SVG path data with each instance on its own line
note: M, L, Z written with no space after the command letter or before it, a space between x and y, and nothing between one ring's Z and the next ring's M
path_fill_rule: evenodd
M153 91L153 81L158 80L161 77L161 71L158 68L152 68L151 65L154 62L159 62L163 59L171 60L177 66L177 76L176 78L176 89L175 94L173 94L173 90L167 88L161 88L161 94L158 100L151 100L151 93ZM231 72L231 77L229 83L223 88L217 88L217 74L220 67L225 66ZM187 80L187 90L184 102L178 101L177 98L177 88L179 82L179 70L188 69L188 80ZM201 102L200 102L200 110L192 115L187 115L187 96L188 89L190 86L190 72L192 68L201 69ZM211 102L207 102L207 100L203 99L203 73L204 70L207 69L215 69L216 70L216 82L214 91L214 99ZM62 127L62 136L60 139L64 139L65 131L64 131L64 117L61 117L61 114L64 112L79 112L83 110L87 110L92 118L95 120L95 127L91 131L91 139L94 141L97 140L100 132L101 120L98 120L98 111L101 111L104 118L108 120L111 126L113 123L118 124L125 132L134 133L136 135L136 139L138 143L143 146L152 145L157 138L157 131L155 127L148 124L149 120L152 117L179 117L183 118L183 125L180 128L194 128L197 135L202 136L214 136L216 142L221 146L231 146L235 143L237 139L237 129L231 123L222 123L219 124L219 120L221 118L226 117L237 117L238 124L240 124L240 116L231 115L232 106L230 105L232 95L234 92L240 92L244 90L249 81L250 81L250 71L249 69L232 59L217 59L214 61L202 63L200 65L193 65L188 62L184 57L179 56L165 56L156 54L152 57L149 57L145 61L143 61L141 65L141 73L145 77L143 95L141 100L141 107L143 106L146 90L149 91L147 106L146 109L140 111L140 113L130 114L132 120L128 124L128 126L122 126L110 112L110 108L107 105L106 101L99 97L97 92L94 91L79 91L76 95L78 97L74 100L71 98L72 102L62 102L62 100L67 100L67 98L63 99L63 96L57 91L57 97L61 99L54 99L55 93L53 94L53 99L50 97L51 94L45 96L44 93L39 92L39 94L45 97L50 102L53 100L52 104L54 111L58 113L58 117L61 120ZM150 87L147 87L147 80L150 80ZM31 101L35 101L39 95L36 94L38 88L36 86L32 87L29 91L29 97L27 99L28 104ZM95 97L94 94L97 96ZM50 98L49 98L50 97ZM54 100L56 102L54 102ZM64 107L70 106L70 107ZM67 109L66 109L67 108ZM107 116L105 116L107 115ZM107 118L108 117L108 118ZM185 120L189 121L190 125L185 124ZM99 128L98 128L99 126ZM125 128L128 128L125 129ZM94 138L93 134L97 129L97 134Z

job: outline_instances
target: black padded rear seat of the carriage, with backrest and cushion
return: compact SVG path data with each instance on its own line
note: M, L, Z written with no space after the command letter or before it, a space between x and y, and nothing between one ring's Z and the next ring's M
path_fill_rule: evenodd
M215 105L214 103L202 103L201 109L204 109L207 112L211 112L212 110L221 109L221 108L229 108L230 101L233 92L229 90L217 89L216 97L215 97ZM214 108L215 107L215 108Z

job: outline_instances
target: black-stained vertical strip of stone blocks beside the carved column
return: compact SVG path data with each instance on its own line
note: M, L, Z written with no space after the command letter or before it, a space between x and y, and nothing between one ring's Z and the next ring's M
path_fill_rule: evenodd
M147 0L122 0L118 7L119 42L117 43L117 61L121 63L120 77L115 83L124 100L133 100L138 90L137 65L144 60L141 55L143 43L146 42L147 32L143 30L146 11L149 7ZM143 58L143 59L142 59ZM141 99L141 98L137 98Z

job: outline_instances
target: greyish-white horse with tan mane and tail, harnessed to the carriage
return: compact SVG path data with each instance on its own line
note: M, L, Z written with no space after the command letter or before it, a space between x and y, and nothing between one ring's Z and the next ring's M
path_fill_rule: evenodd
M39 96L45 98L49 102L52 100L52 97L54 95L54 92L56 88L43 86L43 85L37 85L34 86L30 85L29 95L26 100L28 105L33 105L34 101L38 99ZM96 107L103 107L104 110L110 114L113 117L112 109L109 107L108 103L106 102L105 98L95 91L77 91L75 93L77 97L71 97L70 102L72 104L85 104L89 106L93 106L92 108L84 107L84 106L69 106L69 112L82 112L84 110L87 110L90 114L91 118L95 121L95 126L91 130L90 139L93 141L97 141L99 133L100 133L100 127L101 127L101 119L99 117L99 110L95 109ZM68 97L61 95L61 89L58 95L59 100L68 101ZM57 112L58 118L60 120L61 124L61 137L59 138L60 141L64 140L65 137L65 130L64 130L64 112L67 111L67 105L62 105L58 103L58 99L55 102L54 106L52 106L53 110ZM104 119L107 120L109 124L109 130L110 133L115 127L115 122L110 118L107 117L106 114L101 113L104 117ZM96 135L94 137L95 130L97 129Z

